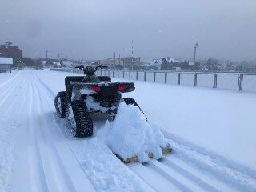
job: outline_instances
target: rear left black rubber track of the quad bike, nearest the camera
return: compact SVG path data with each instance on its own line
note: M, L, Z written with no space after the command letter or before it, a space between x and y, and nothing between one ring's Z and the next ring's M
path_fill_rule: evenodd
M72 114L70 114L72 113ZM83 100L70 102L67 110L67 121L75 137L90 137L93 134L93 122Z

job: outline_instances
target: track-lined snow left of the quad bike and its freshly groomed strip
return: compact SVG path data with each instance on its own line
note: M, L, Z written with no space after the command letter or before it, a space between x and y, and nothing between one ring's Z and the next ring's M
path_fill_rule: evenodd
M36 73L0 85L0 191L153 191L96 136L73 137Z

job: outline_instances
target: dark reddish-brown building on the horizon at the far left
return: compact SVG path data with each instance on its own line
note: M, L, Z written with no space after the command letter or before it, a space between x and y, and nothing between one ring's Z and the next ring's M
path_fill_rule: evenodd
M23 65L22 50L18 46L13 46L11 42L0 46L0 57L13 58L14 66Z

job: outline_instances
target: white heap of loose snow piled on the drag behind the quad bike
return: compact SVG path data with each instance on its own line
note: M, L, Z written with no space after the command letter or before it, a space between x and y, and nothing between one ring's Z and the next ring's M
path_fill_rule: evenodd
M149 153L162 158L162 147L167 145L158 126L147 122L138 106L124 102L120 103L114 121L107 121L97 137L124 160L137 156L139 162L148 162Z

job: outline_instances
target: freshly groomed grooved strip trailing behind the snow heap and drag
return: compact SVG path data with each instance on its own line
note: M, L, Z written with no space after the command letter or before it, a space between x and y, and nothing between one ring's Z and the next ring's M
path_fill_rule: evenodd
M250 175L210 162L210 157L172 142L173 154L146 164L128 164L154 190L168 191L255 191ZM176 153L177 152L177 153Z

